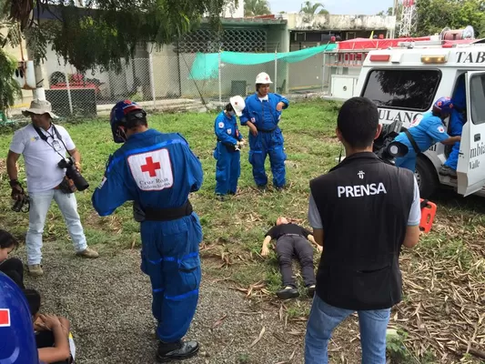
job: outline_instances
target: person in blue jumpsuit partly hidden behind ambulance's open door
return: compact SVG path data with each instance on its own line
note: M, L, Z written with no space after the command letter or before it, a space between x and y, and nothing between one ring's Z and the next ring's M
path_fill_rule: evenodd
M450 115L450 136L461 136L463 125L467 119L467 99L465 91L465 78L459 81L455 95L452 97L453 109ZM453 144L450 156L440 169L441 176L457 177L458 156L460 154L460 142Z

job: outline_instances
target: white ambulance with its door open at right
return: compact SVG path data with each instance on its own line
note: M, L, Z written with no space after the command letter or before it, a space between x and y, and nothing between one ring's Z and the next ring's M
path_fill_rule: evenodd
M370 51L363 62L354 95L374 101L384 124L398 119L409 127L440 96L452 96L459 78L465 78L468 121L461 135L457 178L440 176L450 147L436 144L417 160L421 197L429 197L440 185L464 197L485 197L485 43L480 42L402 42Z

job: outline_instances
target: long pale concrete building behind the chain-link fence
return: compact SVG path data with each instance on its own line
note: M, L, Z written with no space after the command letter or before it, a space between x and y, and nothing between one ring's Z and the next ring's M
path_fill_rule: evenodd
M65 65L65 60L47 46L47 60L40 67L46 98L53 102L53 106L56 104L58 113L66 115L75 109L82 112L89 109L96 113L96 107L99 110L105 105L102 108L106 109L121 98L149 102L153 106L168 99L204 102L222 97L226 101L229 96L252 93L255 77L262 71L267 72L276 83L273 87L276 92L321 92L329 87L331 75L348 75L359 70L328 66L324 54L292 64L270 61L240 66L219 62L219 76L197 81L191 77L191 70L197 54L214 55L219 50L276 54L324 45L331 36L339 36L341 40L369 38L373 32L373 35L390 37L396 22L394 16L379 15L285 14L245 18L243 0L238 0L237 6L234 1L227 3L223 15L222 33L214 31L207 18L203 19L196 31L182 36L173 44L161 48L155 45L139 47L135 59L128 60L120 73L96 69L88 70L84 76L78 75L74 66ZM41 14L40 21L49 16L52 19L49 12ZM18 59L22 55L28 59L25 42L22 52L19 47L10 50L10 53ZM71 93L66 91L66 77L69 89L75 90ZM28 106L32 99L32 91L25 90L23 94L24 99L14 107L17 111Z

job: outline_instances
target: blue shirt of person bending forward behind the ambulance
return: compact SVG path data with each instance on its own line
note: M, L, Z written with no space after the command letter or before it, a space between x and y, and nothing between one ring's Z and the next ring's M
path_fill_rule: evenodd
M442 142L450 137L440 117L433 116L431 112L423 114L421 121L411 125L408 130L421 152L425 152L436 143ZM396 136L394 140L406 145L409 151L414 150L405 133L399 133L399 136ZM416 151L416 153L418 152Z

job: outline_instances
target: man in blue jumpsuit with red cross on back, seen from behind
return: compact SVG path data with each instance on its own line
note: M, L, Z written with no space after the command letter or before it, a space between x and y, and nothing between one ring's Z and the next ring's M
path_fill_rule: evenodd
M196 341L182 338L197 308L202 241L188 195L202 185L202 166L183 136L149 129L147 114L134 102L118 102L110 122L115 142L125 144L110 156L93 206L105 217L134 201L141 269L151 280L158 321L157 360L187 359L198 351Z

